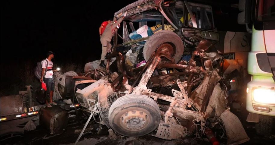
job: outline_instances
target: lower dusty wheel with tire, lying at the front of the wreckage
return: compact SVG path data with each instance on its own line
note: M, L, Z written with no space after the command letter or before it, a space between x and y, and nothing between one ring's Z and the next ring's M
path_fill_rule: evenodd
M160 122L158 104L145 95L126 95L109 110L109 123L118 134L139 137L154 131Z

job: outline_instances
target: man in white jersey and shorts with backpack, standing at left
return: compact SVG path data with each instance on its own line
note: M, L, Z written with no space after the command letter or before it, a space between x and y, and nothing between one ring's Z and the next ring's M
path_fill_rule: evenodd
M53 95L54 95L54 72L57 70L53 70L53 62L51 59L54 58L54 53L52 51L48 51L47 58L41 62L42 65L42 72L41 72L41 79L40 82L44 80L47 86L47 99L46 99L46 105L47 107L51 107L51 104L57 105L55 102L53 102ZM48 62L48 66L47 66ZM46 74L45 74L46 73ZM50 99L48 98L48 94L50 94Z

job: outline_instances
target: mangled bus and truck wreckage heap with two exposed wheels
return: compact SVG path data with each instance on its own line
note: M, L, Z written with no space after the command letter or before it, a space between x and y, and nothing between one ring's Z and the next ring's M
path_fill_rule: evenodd
M194 18L195 6L187 1L139 0L115 13L118 18L127 15L123 36L114 35L106 69L90 70L85 77L92 79L74 84L76 88L91 83L75 93L82 111L91 113L89 119L127 137L217 137L228 145L249 140L227 105L231 72L224 73L224 58L215 49L219 38L211 30L213 18ZM212 13L211 7L199 6L200 12ZM189 17L193 27L188 27ZM149 22L155 26L149 27ZM180 60L188 52L189 61Z

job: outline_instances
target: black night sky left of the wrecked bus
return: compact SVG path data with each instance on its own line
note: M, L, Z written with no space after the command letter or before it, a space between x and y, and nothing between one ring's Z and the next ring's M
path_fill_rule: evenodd
M100 59L100 24L134 1L1 1L1 86L49 50L59 64Z

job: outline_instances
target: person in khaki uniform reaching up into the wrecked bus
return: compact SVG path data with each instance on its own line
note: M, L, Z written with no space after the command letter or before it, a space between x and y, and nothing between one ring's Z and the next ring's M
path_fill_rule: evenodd
M116 33L116 30L119 28L119 24L122 22L122 20L125 18L127 14L127 11L124 13L124 15L119 19L119 20L114 20L111 23L109 23L104 32L102 33L101 37L100 37L100 42L102 44L102 53L101 53L101 63L100 66L105 68L106 65L104 64L105 61L105 55L107 54L107 52L109 52L111 50L111 40L112 37L114 36L114 34ZM118 14L117 16L121 16L122 13Z

